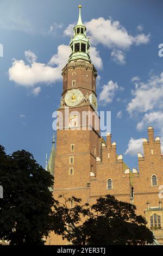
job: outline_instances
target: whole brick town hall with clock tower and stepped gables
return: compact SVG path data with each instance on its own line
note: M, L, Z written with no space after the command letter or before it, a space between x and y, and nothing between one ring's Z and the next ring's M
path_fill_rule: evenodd
M117 155L116 142L111 134L106 141L101 137L96 94L97 70L91 62L90 43L81 18L74 26L70 41L71 54L62 69L63 89L58 109L56 147L49 157L47 170L54 175L53 196L75 196L82 203L95 203L106 194L136 205L136 212L147 220L157 241L163 244L163 207L159 186L163 185L163 156L160 138L148 127L148 138L143 139L143 155L138 153L138 168L130 169ZM68 111L68 121L65 119ZM89 113L89 118L83 116ZM162 188L163 190L163 188ZM163 193L162 193L163 194ZM163 199L162 199L163 200ZM70 202L70 208L73 202ZM51 233L47 244L64 245L61 236Z

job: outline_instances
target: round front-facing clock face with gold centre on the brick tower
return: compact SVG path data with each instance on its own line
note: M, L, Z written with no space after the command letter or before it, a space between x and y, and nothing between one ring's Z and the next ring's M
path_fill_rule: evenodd
M65 103L70 107L77 106L82 102L83 98L83 93L79 89L69 90L65 96Z

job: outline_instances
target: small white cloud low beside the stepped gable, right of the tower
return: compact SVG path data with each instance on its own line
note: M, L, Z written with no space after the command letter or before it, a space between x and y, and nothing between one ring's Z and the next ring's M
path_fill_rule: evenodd
M131 137L128 143L128 149L124 154L135 156L137 153L143 154L143 140L142 138L134 139Z

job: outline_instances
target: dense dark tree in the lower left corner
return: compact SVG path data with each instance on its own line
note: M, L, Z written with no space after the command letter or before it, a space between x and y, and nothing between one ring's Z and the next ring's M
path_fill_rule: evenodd
M7 155L0 146L0 185L0 239L10 245L43 244L53 218L53 176L29 152Z

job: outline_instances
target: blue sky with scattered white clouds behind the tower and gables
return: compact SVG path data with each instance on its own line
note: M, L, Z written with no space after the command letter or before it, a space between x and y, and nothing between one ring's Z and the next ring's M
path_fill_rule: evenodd
M0 0L0 144L45 166L78 4L99 74L98 110L111 111L112 142L135 167L147 127L163 138L162 1Z

